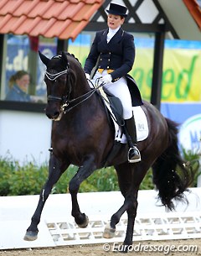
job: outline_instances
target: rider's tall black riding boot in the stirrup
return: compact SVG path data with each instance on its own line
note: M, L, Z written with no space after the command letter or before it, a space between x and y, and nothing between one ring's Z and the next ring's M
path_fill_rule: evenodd
M130 163L137 163L141 161L141 154L139 149L137 149L137 131L136 131L136 124L135 119L132 116L130 119L125 120L126 131L130 136L128 139L128 162ZM127 137L129 137L127 136Z

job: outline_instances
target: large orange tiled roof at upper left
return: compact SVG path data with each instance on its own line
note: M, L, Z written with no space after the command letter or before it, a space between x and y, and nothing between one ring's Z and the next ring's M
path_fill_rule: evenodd
M0 34L75 39L105 0L1 0Z

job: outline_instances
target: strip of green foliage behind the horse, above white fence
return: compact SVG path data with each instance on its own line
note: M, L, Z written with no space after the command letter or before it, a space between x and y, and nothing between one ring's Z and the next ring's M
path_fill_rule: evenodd
M192 186L197 185L198 173L198 154L183 150L183 158L196 173ZM70 165L68 170L60 177L54 185L52 193L68 192L70 180L75 175L78 168ZM0 158L0 196L19 196L39 194L48 177L48 163L38 166L36 163L27 162L23 166L12 157ZM142 184L141 190L153 189L152 170L148 170ZM119 191L116 170L113 167L95 170L93 175L80 185L80 192L95 191Z

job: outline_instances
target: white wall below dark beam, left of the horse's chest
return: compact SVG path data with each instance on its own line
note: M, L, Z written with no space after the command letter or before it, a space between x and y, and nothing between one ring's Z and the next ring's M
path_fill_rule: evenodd
M0 111L0 157L10 154L21 164L49 160L52 122L44 113Z

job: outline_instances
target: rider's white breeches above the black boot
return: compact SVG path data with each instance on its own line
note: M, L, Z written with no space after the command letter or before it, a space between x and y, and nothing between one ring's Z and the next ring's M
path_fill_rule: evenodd
M93 81L101 76L107 75L107 71L103 71L102 74L99 71L96 71ZM121 100L123 107L123 118L129 119L132 117L132 103L131 103L131 94L127 86L126 78L121 77L115 82L111 82L104 86L111 94L118 97Z

